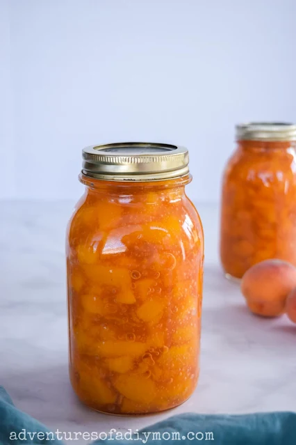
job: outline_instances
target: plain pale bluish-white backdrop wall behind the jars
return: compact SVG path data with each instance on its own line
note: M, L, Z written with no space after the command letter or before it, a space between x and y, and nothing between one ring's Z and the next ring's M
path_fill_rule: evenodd
M243 120L296 120L295 0L0 0L0 198L81 194L81 148L187 146L218 201Z

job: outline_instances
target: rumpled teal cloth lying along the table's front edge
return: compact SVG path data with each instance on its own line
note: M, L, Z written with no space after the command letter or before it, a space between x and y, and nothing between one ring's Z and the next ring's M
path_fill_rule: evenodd
M102 416L104 414L98 414ZM129 419L126 419L128 425ZM24 430L26 440L24 440ZM10 439L11 432L23 433L20 439ZM35 432L34 437L28 437L28 432ZM47 444L62 445L63 442L54 439L51 435L37 437L38 432L49 432L42 423L33 419L28 414L19 411L8 393L0 387L0 444ZM157 435L153 436L155 432ZM213 432L213 440L209 433ZM50 432L49 432L50 433ZM150 433L150 434L149 434ZM174 434L180 435L180 440L174 439ZM197 434L198 433L198 434ZM208 434L206 434L208 433ZM51 434L51 433L50 433ZM124 434L124 432L122 432ZM195 435L197 438L195 439ZM160 439L158 439L160 435ZM202 436L204 435L204 436ZM50 438L48 440L47 438ZM95 444L120 444L131 445L164 445L164 444L197 444L213 443L215 445L295 445L296 444L296 414L293 412L271 412L245 415L204 415L187 413L179 416L172 416L169 419L155 423L138 432L138 436L131 440L116 440L116 433L113 432L112 439L98 440ZM176 436L175 436L176 437ZM183 439L183 437L185 439ZM75 440L73 440L75 444ZM85 441L85 444L88 443Z

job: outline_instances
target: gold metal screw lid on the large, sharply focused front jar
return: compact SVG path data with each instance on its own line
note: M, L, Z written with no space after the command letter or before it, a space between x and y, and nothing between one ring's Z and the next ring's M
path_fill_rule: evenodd
M188 150L165 143L123 142L82 151L83 175L109 181L157 181L187 175Z

